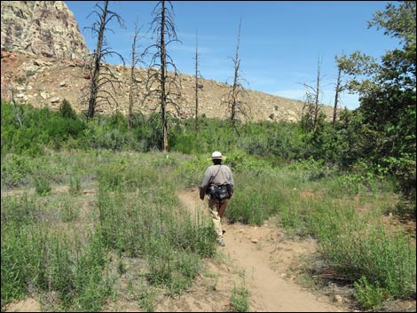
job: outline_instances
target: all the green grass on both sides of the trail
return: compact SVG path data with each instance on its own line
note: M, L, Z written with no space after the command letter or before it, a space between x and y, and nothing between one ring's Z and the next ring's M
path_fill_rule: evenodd
M59 121L54 113L42 114ZM12 113L7 116L12 122ZM266 140L266 130L258 125L241 129L246 138L227 139L231 129L204 123L207 128L199 136L181 137L185 130L176 129L172 140L177 152L141 153L151 146L144 144L146 136L154 134L138 131L135 136L142 141L135 144L138 138L123 128L114 132L109 124L97 122L78 129L91 137L77 133L64 143L53 141L53 149L68 147L56 151L43 143L54 136L52 129L43 137L33 129L29 135L39 141L28 137L14 146L28 134L13 133L2 122L2 191L13 194L2 198L2 309L30 293L57 294L59 309L102 309L114 294L117 276L128 269L124 262L134 258L145 261L137 269L146 278L139 297L143 309L154 309L156 287L169 295L184 293L201 270L201 260L216 254L216 236L210 221L185 211L177 193L201 183L212 150L227 155L225 164L235 178L226 211L230 222L262 225L278 215L277 226L287 233L318 239L322 257L338 276L352 282L365 309L415 294L413 238L400 225L381 219L387 212L399 212L390 179L341 173L311 159L284 161L283 155L267 152L272 143L288 138L280 134ZM221 130L211 138L214 126ZM274 133L286 125L265 127ZM289 133L295 134L295 127ZM289 142L286 156L297 156L299 139ZM85 150L75 149L80 147ZM279 151L279 146L274 149ZM87 187L95 192L83 195ZM117 275L111 269L113 254L123 260L116 265ZM248 309L246 292L234 288L234 309Z

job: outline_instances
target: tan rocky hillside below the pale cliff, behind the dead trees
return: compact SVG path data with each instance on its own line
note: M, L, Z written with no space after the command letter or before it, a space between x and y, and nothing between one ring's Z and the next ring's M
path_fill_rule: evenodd
M99 108L102 113L114 113L119 110L128 112L128 95L130 69L122 66L110 66L117 79L121 82L114 98L115 103L104 104ZM144 69L137 69L138 76L145 74ZM1 52L1 85L2 98L10 100L12 91L17 103L31 104L35 107L48 106L57 110L60 103L66 98L77 113L88 108L86 96L90 82L89 72L82 60L54 59L29 54L21 51ZM180 102L181 117L194 116L194 77L180 74L182 94L185 101ZM199 80L199 114L208 117L224 118L224 107L220 106L221 99L231 87L222 82L212 80ZM111 88L108 91L113 90ZM145 83L138 80L136 103L134 111L151 113L158 108L156 98L148 99L144 107L138 105L139 99L145 92ZM303 101L272 96L256 90L247 90L247 99L254 121L299 121L303 111ZM331 118L333 108L322 106L327 117Z

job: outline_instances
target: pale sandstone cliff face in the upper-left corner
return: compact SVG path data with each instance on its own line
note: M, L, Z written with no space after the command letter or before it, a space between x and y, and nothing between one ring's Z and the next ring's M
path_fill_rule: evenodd
M90 53L62 1L2 1L1 9L2 50L56 59L83 59Z

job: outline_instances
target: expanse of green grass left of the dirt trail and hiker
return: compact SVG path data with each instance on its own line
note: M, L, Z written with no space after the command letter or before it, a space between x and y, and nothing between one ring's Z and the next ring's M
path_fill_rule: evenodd
M99 162L88 167L91 156ZM153 286L184 293L201 270L201 258L216 253L216 236L209 220L185 215L180 205L175 170L180 162L162 153L44 156L44 168L31 169L34 176L43 174L42 184L20 184L35 193L2 199L2 308L29 293L55 293L59 309L96 311L113 294L114 252L146 260L140 270L149 290L143 294L152 295ZM15 172L10 164L2 164L4 173ZM31 163L20 164L26 170ZM74 172L78 166L85 168L83 174ZM82 212L88 199L81 182L96 180L97 205ZM51 188L57 182L67 182L67 188ZM117 267L118 275L126 271L121 262ZM146 309L153 306L149 297L143 298Z

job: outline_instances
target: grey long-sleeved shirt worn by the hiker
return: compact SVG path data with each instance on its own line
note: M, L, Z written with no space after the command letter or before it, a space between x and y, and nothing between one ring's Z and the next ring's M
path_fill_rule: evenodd
M215 184L217 186L221 184L230 184L231 185L231 195L233 193L234 181L232 176L232 171L227 165L217 164L211 165L206 169L202 183L200 186L200 198L204 199L207 190L209 189L210 184Z

